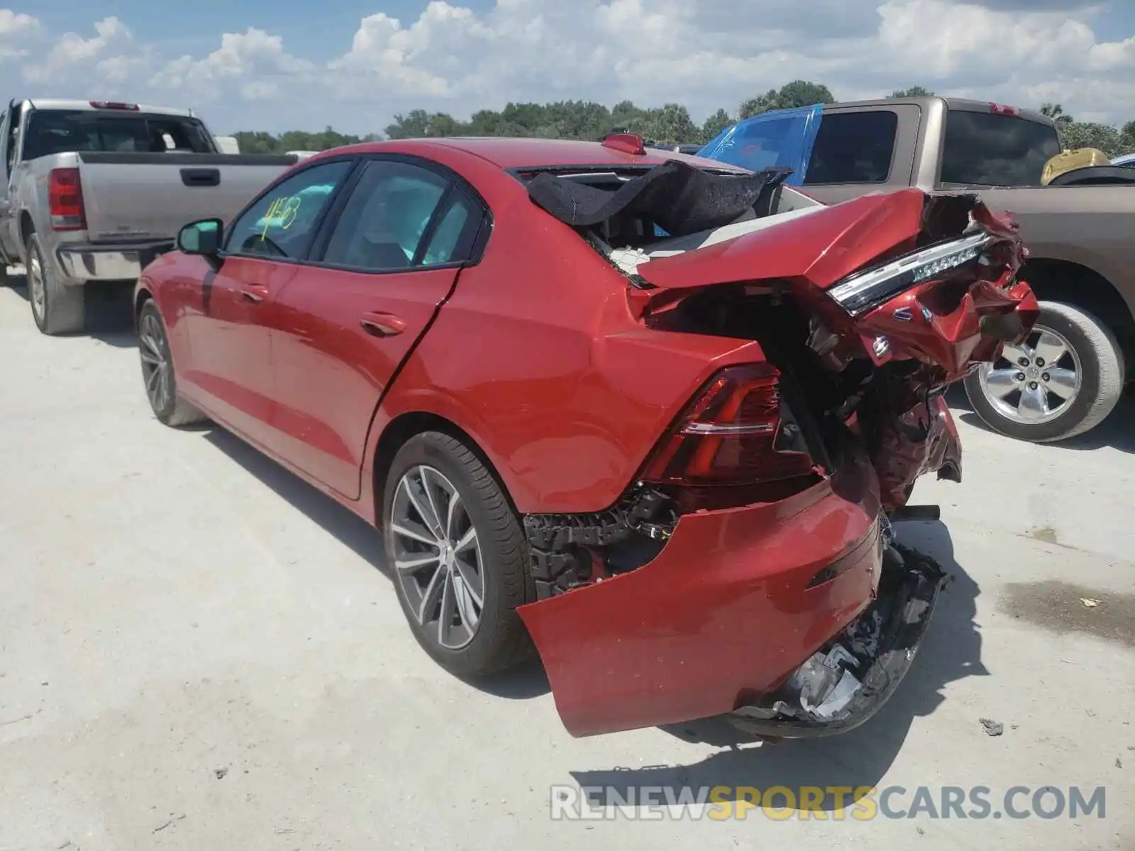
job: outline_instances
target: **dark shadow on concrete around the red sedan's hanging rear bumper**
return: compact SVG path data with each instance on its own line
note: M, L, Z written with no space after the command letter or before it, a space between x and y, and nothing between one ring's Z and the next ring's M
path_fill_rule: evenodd
M743 787L782 786L793 790L794 795L800 794L801 787L814 787L822 793L809 802L809 808L830 812L840 808L841 795L833 787L850 787L847 795L859 790L859 797L876 787L901 750L915 718L934 713L944 700L944 688L967 676L989 674L981 660L981 634L974 621L980 588L955 561L949 530L940 522L900 523L897 532L905 544L938 559L949 581L917 660L874 718L841 735L775 743L755 742L724 717L664 726L663 731L683 741L721 750L692 765L572 772L580 786L596 787L588 802L596 807L621 803L614 794L607 800L607 793L599 791L607 787L623 797L629 793L628 787L669 786L674 795L683 786L691 786L695 793L703 787L725 787L726 798L722 800L731 801L746 799ZM842 806L850 806L850 797L844 798ZM776 806L783 806L783 799L777 798Z

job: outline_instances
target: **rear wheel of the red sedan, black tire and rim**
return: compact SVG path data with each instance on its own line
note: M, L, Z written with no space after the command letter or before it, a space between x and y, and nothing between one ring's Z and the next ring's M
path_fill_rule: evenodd
M426 431L394 457L382 536L414 638L462 677L530 658L515 609L536 599L529 549L504 490L469 447Z

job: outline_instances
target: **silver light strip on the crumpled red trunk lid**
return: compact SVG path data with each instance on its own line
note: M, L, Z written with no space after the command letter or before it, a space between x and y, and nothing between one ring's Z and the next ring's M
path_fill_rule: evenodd
M874 269L856 272L829 289L827 294L852 317L858 317L915 284L977 260L992 238L992 234L982 230L922 248Z

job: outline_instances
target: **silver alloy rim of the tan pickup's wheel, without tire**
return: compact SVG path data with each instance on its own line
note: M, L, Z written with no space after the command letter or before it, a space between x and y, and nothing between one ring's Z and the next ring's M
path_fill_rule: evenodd
M977 376L999 414L1033 426L1068 410L1079 395L1084 370L1063 335L1037 325L1025 343L1006 345L1001 359L981 366Z

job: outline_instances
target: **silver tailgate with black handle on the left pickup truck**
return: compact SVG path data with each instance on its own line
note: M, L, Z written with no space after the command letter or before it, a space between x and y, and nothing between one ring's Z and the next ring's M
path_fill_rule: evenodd
M226 222L296 157L213 153L78 154L92 242L171 239L183 225Z

